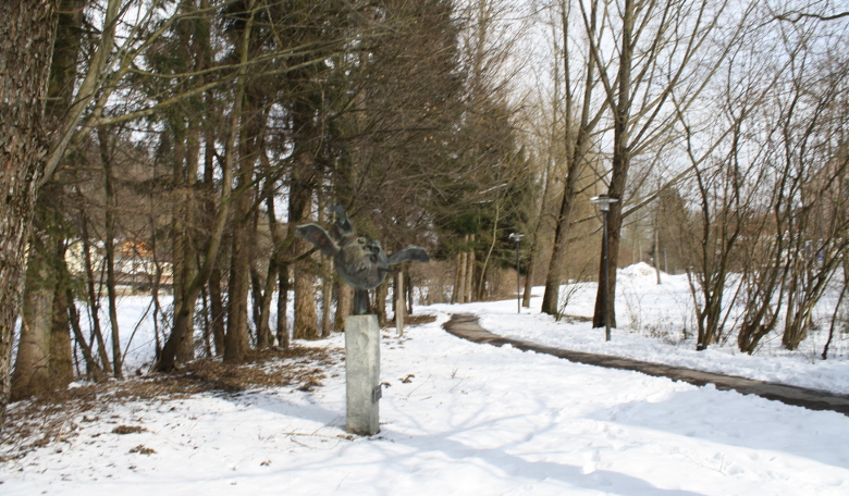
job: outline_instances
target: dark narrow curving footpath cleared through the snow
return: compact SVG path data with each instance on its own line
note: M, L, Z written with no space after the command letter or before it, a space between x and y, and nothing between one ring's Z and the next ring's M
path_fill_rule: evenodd
M825 390L809 389L778 383L754 381L735 375L716 374L680 367L644 362L630 358L570 351L554 348L552 346L539 345L528 340L502 337L481 327L478 324L478 317L469 313L455 313L448 322L443 324L443 327L448 333L473 343L499 347L510 345L522 351L552 355L554 357L565 358L573 362L605 367L608 369L632 370L648 375L669 377L674 381L684 381L697 386L713 384L717 389L734 389L745 395L758 395L766 399L774 399L787 405L804 407L811 410L832 410L849 416L849 396L846 395L836 395Z

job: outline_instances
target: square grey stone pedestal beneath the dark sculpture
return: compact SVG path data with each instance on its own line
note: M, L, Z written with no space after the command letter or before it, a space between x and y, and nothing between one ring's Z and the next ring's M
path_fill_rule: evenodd
M377 315L345 318L347 431L370 436L380 432L380 327Z

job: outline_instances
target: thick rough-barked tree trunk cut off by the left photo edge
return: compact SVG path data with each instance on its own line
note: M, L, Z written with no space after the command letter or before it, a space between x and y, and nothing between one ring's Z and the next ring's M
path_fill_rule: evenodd
M0 2L0 429L11 386L11 354L26 243L48 139L45 100L57 0Z

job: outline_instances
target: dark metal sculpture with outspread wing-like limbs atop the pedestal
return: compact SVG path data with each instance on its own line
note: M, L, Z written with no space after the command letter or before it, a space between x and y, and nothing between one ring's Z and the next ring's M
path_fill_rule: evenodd
M336 214L336 221L333 223L333 234L336 239L331 238L323 227L316 224L297 226L295 236L307 239L322 253L333 257L336 272L349 286L357 289L372 289L386 278L387 273L392 272L390 265L407 260L418 262L430 260L424 249L417 246L408 246L387 257L380 241L354 233L345 209L335 206L331 210Z

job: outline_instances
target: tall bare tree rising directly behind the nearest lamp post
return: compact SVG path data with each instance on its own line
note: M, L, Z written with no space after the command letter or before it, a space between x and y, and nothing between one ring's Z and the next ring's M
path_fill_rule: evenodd
M625 0L605 10L600 21L610 37L605 42L590 38L590 52L612 111L611 173L607 194L618 199L610 211L607 243L610 294L600 285L593 326L604 324L604 301L614 302L616 265L623 219L637 206L624 198L631 161L669 139L676 121L667 103L679 95L678 109L690 109L716 73L723 53L741 33L751 7L734 12L731 28L718 44L715 34L729 14L728 2L679 2ZM586 29L592 32L590 12L581 3ZM731 17L728 17L730 20ZM611 52L606 47L615 47ZM631 210L628 210L628 209ZM604 268L600 268L600 274ZM612 308L614 306L612 305ZM615 311L612 311L615 315ZM615 320L615 318L614 318ZM615 325L615 322L612 322Z

